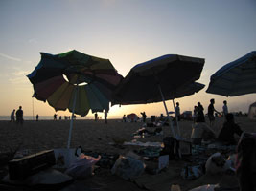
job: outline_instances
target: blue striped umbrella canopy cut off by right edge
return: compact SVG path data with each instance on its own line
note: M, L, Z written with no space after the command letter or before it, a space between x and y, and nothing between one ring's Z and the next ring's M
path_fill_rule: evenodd
M256 93L256 51L224 65L211 75L206 92L221 96Z

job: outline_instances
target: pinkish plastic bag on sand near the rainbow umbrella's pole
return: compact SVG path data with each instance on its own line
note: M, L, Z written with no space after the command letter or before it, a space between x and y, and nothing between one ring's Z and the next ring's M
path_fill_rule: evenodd
M94 165L101 159L86 156L83 153L75 159L65 173L75 179L86 178L93 175Z

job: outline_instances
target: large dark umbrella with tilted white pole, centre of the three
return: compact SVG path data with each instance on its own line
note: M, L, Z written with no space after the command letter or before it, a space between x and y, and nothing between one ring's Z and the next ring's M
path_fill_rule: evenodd
M117 86L112 103L127 105L163 101L175 137L165 100L187 96L180 88L188 88L198 80L203 65L202 58L177 54L163 55L138 64Z

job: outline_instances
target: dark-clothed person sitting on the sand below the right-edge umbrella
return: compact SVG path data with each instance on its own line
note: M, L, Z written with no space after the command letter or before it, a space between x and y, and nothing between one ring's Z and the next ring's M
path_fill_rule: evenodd
M241 136L242 133L243 131L240 129L239 125L234 121L233 114L228 113L218 139L227 144L237 144L234 135L237 134L238 136Z

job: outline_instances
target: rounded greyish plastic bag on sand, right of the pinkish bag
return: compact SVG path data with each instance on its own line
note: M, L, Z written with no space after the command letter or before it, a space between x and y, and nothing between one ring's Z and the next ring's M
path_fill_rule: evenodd
M111 169L112 174L118 175L125 180L139 177L145 169L145 165L138 159L120 156Z

